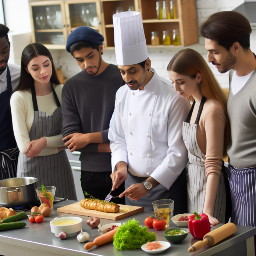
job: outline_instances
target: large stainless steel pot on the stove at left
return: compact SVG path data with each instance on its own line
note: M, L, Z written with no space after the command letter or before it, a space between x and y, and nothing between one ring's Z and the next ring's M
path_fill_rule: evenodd
M0 181L0 205L19 207L37 200L37 178L21 177L3 179Z

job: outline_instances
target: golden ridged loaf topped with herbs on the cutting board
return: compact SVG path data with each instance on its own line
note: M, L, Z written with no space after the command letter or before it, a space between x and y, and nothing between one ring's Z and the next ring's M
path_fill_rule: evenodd
M116 203L104 203L102 200L88 198L82 199L80 205L85 209L103 211L105 213L117 213L120 208Z

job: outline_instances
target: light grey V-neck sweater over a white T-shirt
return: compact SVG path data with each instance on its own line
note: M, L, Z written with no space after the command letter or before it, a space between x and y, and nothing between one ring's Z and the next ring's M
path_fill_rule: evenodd
M230 90L227 112L230 120L228 163L238 169L256 166L256 70L235 95L231 82L234 70L230 70Z

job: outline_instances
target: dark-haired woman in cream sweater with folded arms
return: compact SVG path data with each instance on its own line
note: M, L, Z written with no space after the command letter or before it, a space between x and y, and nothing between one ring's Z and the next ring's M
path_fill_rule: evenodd
M56 186L56 196L76 200L74 178L62 141L61 92L50 51L27 45L19 84L11 96L14 136L20 150L17 177L35 177L37 186Z

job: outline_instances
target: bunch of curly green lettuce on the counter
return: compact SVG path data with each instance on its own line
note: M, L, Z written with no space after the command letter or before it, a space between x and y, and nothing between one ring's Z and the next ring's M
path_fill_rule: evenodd
M118 250L133 250L140 249L144 243L152 241L156 241L155 233L149 233L146 226L142 228L138 220L132 219L118 228L113 245Z

